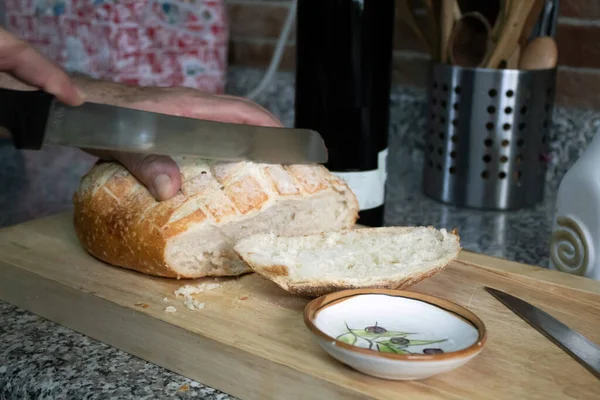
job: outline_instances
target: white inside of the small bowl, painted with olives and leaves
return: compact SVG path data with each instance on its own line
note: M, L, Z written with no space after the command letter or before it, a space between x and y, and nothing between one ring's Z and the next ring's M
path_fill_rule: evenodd
M450 353L477 342L478 331L454 313L385 294L350 297L317 313L315 326L365 349L397 354Z

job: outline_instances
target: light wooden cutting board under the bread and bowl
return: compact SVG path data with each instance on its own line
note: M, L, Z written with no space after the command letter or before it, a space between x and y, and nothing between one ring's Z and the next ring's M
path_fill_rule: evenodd
M387 381L329 357L305 328L306 299L256 274L218 280L190 311L184 284L110 267L75 237L71 214L0 230L0 299L242 399L592 399L600 381L484 289L541 307L600 343L600 282L463 251L411 290L466 306L483 352L423 381ZM164 298L168 302L164 302ZM172 305L177 312L167 314Z

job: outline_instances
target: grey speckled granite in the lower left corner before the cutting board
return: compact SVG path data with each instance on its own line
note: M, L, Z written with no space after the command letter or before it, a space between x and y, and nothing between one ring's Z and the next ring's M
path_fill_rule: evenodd
M234 399L12 305L0 321L0 399Z

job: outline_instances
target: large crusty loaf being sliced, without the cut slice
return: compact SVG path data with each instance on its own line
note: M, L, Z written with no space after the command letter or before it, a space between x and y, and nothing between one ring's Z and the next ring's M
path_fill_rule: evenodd
M174 159L181 191L162 202L118 163L82 178L74 226L90 254L154 276L235 276L251 272L233 251L244 237L337 231L358 218L350 188L320 165Z

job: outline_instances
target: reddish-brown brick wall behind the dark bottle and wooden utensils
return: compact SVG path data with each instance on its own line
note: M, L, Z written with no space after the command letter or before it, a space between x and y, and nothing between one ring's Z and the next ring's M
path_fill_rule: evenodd
M231 24L231 65L267 66L287 17L289 0L225 0ZM318 0L315 0L318 1ZM600 109L600 0L561 0L557 105ZM280 69L295 65L290 35ZM393 80L422 86L428 54L400 19L394 32Z

